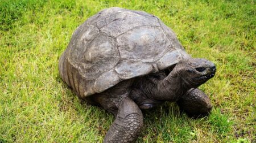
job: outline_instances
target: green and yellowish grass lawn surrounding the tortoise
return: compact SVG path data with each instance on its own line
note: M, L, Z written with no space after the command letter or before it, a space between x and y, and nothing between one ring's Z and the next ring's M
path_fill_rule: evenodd
M144 111L138 142L256 142L255 1L0 0L0 142L102 142L114 116L80 101L61 81L72 32L103 8L158 16L216 76L200 89L213 103L191 119L175 103Z

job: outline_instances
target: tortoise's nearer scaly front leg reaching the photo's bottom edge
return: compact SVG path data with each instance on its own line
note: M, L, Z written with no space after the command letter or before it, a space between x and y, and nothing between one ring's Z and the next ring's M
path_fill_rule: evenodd
M118 114L106 133L104 142L135 142L143 126L138 105L130 98L123 99Z

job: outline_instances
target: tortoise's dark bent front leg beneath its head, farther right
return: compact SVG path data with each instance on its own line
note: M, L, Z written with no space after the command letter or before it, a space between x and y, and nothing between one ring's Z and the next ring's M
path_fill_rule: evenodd
M197 88L191 88L178 101L177 105L189 116L202 117L212 110L212 104L207 95Z

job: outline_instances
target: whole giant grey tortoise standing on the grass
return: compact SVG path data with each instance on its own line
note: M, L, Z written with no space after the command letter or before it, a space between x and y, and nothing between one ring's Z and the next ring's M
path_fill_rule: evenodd
M119 7L81 24L59 59L60 76L77 96L115 115L104 142L135 142L141 110L165 101L207 115L212 105L197 87L215 72L209 60L187 54L159 18Z

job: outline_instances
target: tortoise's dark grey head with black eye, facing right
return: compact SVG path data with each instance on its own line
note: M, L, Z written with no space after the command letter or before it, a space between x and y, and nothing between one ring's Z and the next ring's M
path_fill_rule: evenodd
M183 59L175 66L177 74L191 88L204 84L215 75L216 66L207 59Z

